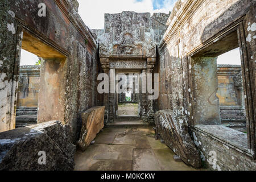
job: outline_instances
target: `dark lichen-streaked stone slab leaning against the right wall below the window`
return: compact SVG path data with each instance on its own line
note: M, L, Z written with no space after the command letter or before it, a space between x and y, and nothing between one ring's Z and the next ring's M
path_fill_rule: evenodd
M184 163L201 167L201 158L191 136L188 133L187 119L172 110L160 110L155 114L157 132L164 143L179 155Z

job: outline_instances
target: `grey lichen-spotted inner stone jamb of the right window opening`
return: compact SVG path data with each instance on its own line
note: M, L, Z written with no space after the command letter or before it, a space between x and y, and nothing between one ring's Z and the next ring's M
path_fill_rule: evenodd
M193 118L196 125L220 125L217 57L192 59ZM188 114L189 115L189 114Z

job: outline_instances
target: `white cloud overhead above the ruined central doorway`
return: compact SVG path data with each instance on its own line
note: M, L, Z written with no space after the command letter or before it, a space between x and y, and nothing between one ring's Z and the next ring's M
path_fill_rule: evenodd
M122 11L135 11L137 13L169 13L174 3L165 0L164 8L154 10L152 0L78 0L79 14L86 26L92 29L104 28L105 13L121 13Z

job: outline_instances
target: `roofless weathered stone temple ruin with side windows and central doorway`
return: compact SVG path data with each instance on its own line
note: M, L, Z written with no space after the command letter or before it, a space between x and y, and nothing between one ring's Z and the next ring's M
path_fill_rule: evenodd
M178 0L171 14L105 14L104 30L90 30L76 0L1 1L0 170L101 170L104 144L113 144L104 160L119 170L145 169L140 160L152 155L156 168L146 169L179 170L168 166L168 152L185 169L256 170L255 3ZM217 65L235 48L241 65ZM42 64L20 67L21 49ZM130 100L99 93L101 73L109 91L133 74ZM159 75L156 100L134 92L150 74ZM120 115L127 102L135 115ZM153 127L166 156L137 135ZM39 154L51 163L39 163Z

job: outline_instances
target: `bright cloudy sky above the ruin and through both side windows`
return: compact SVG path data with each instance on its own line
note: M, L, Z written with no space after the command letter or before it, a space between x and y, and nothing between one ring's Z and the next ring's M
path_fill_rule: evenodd
M79 14L90 29L104 28L105 13L136 11L138 13L169 13L177 0L77 0ZM38 57L22 49L20 65L34 65ZM218 64L241 64L240 51L235 49L218 57Z

